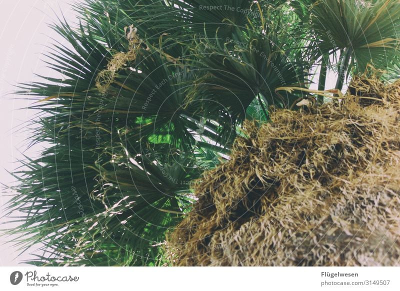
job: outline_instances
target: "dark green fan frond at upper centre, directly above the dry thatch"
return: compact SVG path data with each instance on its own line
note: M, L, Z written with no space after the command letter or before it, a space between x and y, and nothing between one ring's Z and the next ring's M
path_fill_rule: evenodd
M267 106L289 106L298 96L283 96L275 89L303 86L307 73L301 62L290 59L280 43L273 32L265 36L251 30L238 35L237 40L227 41L223 47L204 39L194 50L208 74L199 79L195 94L212 96L239 120L245 117L246 108L258 94ZM210 102L210 106L215 107L215 103Z

